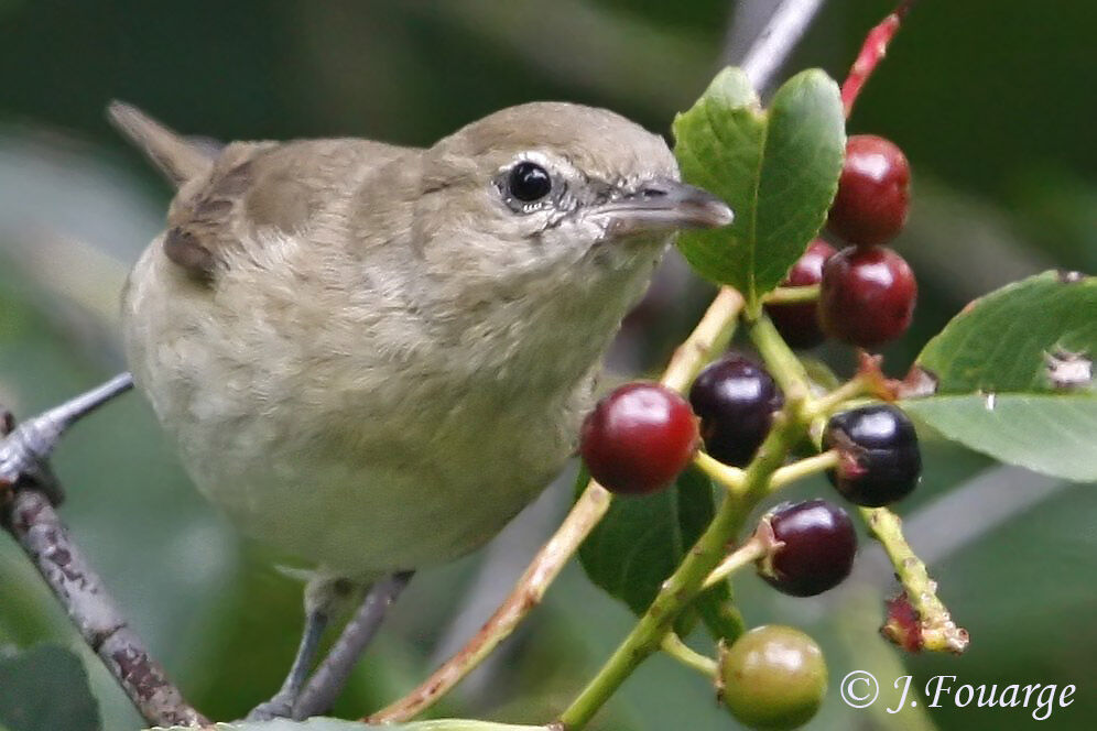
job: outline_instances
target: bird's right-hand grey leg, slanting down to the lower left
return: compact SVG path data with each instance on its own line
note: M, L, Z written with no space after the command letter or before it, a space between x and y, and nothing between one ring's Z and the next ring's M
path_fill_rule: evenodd
M413 571L392 574L369 588L358 611L343 628L343 633L332 646L327 657L297 696L292 710L294 720L323 713L332 707L350 677L358 658L381 626L389 605L408 586Z

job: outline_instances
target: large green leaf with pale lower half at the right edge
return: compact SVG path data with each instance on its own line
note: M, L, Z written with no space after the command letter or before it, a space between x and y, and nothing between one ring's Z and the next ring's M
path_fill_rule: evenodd
M1097 277L1045 272L976 299L930 340L917 366L937 391L901 405L1001 461L1094 481L1095 352Z

